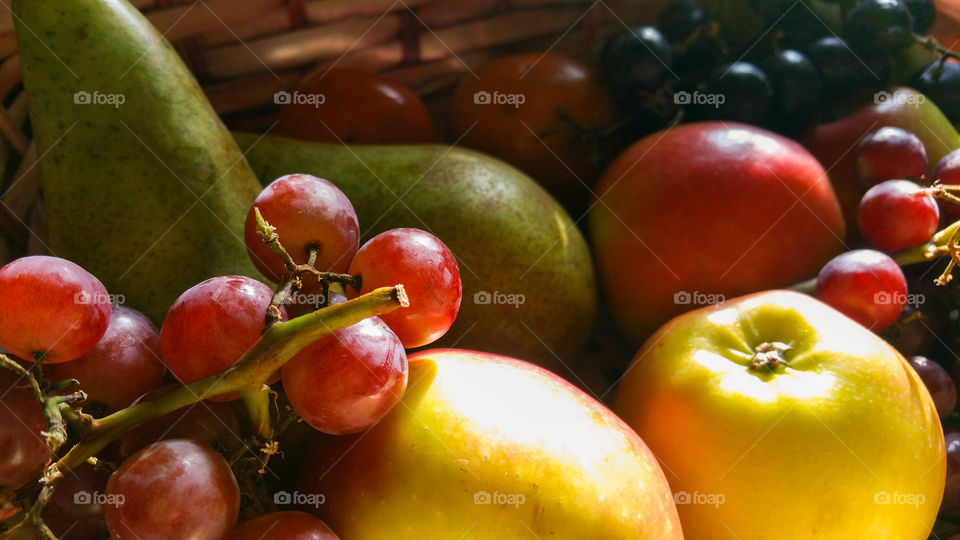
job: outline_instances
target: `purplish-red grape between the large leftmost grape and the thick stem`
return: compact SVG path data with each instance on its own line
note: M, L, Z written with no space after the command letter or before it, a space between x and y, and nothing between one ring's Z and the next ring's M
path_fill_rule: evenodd
M148 390L163 384L166 368L160 357L160 333L142 313L116 306L110 314L107 331L87 354L44 369L47 380L77 379L79 387L63 393L83 390L87 400L84 412L118 411Z

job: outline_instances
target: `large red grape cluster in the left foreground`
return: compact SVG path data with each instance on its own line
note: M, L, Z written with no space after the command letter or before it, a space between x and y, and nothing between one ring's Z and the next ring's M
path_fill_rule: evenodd
M245 234L251 259L279 282L277 291L250 277L213 277L185 291L159 331L114 305L103 284L70 261L15 260L0 269L0 344L23 368L36 369L32 380L45 403L51 395L85 398L82 411L99 417L228 370L268 325L284 324L287 308L307 314L402 284L410 307L328 334L266 381L281 381L277 390L316 430L368 429L406 390L406 349L434 342L453 324L462 295L453 253L410 228L360 246L347 197L304 174L263 190ZM346 297L333 290L340 286ZM163 385L168 371L178 383ZM54 458L43 436L49 416L26 373L0 367L0 493L35 481ZM226 458L246 449L238 435L245 426L227 402L238 397L214 396L123 433L98 456L119 464L116 470L84 464L71 471L43 508L47 525L66 538L335 539L300 512L267 513L235 529L240 486Z

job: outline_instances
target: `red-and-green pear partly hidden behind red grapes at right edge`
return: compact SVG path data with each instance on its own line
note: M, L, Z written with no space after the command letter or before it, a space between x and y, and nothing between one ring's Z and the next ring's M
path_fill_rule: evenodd
M865 135L884 126L904 129L923 141L930 163L928 173L943 156L960 147L960 134L950 120L933 101L912 88L877 92L872 103L811 128L803 144L827 169L851 235L858 230L857 208L864 193L854 176L856 147Z

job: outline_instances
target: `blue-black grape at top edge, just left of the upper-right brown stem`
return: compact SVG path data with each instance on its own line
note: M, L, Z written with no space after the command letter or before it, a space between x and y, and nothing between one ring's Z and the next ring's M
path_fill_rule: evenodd
M901 0L860 0L847 14L844 37L858 51L892 54L913 35L913 17Z

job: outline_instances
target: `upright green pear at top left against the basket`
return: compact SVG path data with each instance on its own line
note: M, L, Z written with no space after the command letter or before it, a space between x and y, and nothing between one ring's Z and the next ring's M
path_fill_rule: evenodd
M162 321L190 286L259 276L259 183L176 51L125 0L14 0L49 245Z

